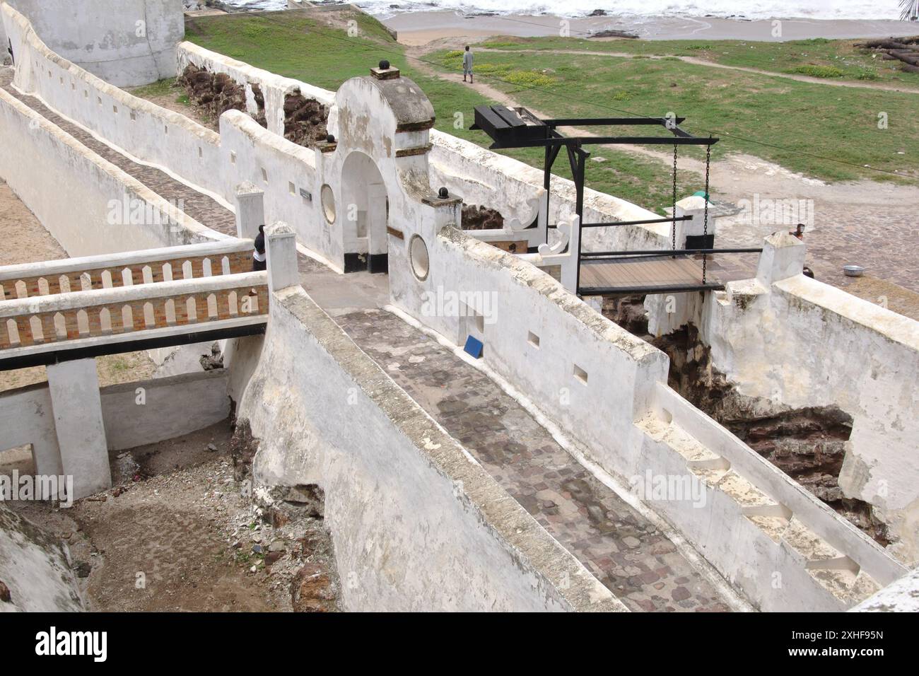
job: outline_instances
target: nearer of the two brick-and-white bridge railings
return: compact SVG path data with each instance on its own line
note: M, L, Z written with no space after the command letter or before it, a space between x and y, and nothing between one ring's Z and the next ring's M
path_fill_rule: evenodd
M0 351L268 314L267 272L0 303Z

